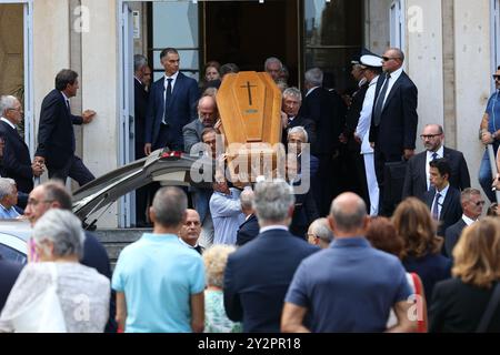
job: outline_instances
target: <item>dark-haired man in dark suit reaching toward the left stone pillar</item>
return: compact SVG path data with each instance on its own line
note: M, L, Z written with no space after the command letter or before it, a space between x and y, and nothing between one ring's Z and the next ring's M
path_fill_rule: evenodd
M96 178L74 155L73 124L92 122L96 112L86 110L81 116L71 114L69 99L77 95L79 88L77 72L63 69L57 74L56 89L41 104L34 161L47 165L50 179L66 182L70 176L81 186Z

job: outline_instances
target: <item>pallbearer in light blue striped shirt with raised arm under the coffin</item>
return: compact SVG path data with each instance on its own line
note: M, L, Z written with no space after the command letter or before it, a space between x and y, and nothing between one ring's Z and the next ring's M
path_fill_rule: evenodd
M213 244L236 245L238 230L244 222L240 191L234 187L230 189L226 180L213 183L210 213L214 230Z

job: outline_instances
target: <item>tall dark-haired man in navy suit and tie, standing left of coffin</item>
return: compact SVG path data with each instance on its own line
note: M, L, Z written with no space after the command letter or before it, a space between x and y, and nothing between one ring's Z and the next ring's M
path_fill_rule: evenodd
M166 48L160 53L164 77L157 80L149 95L146 116L144 153L169 148L182 151L182 128L196 118L198 83L179 71L179 53Z

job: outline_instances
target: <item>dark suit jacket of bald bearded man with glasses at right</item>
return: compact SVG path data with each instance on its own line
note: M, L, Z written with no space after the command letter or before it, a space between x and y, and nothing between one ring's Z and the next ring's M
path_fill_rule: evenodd
M444 146L443 155L451 168L451 176L449 178L450 185L458 190L470 187L469 169L467 168L463 154ZM427 192L426 161L427 151L412 156L408 161L402 193L403 199L416 196L423 200L423 195Z

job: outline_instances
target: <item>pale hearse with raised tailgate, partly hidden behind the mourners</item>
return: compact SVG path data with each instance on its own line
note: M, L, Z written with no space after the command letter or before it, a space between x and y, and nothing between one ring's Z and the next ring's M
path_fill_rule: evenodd
M153 181L161 185L211 186L211 181L194 183L191 173L196 170L194 173L199 176L206 171L209 173L206 176L212 179L213 166L209 158L157 150L148 158L111 171L74 191L73 213L84 225L91 227L97 222L93 220L89 223L91 214ZM27 243L30 235L31 226L27 220L0 220L0 254L7 260L24 264L28 258Z

